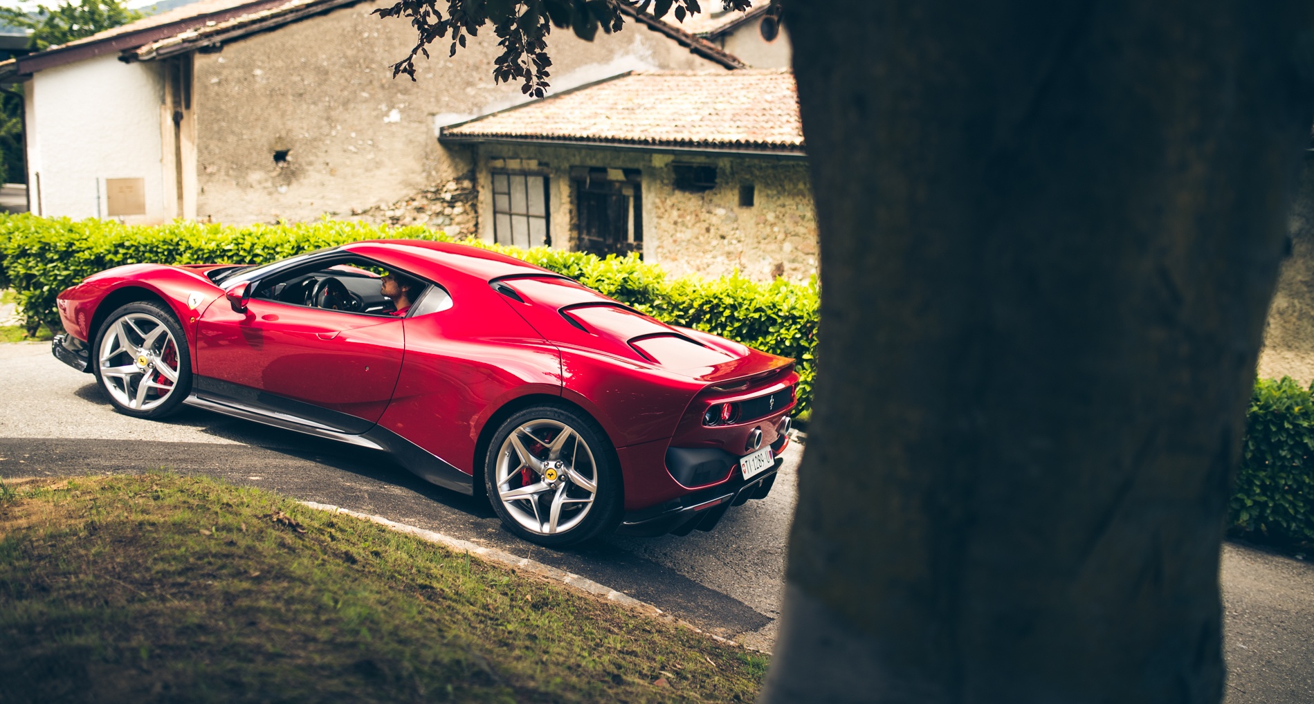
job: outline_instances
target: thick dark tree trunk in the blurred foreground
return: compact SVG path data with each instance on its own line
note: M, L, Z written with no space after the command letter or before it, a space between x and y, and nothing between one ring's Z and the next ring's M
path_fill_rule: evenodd
M824 332L763 701L1219 699L1307 7L786 0Z

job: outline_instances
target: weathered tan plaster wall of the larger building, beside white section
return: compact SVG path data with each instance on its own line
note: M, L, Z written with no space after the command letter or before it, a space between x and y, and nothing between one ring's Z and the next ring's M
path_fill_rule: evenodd
M372 16L376 3L302 20L197 54L197 217L215 222L348 217L470 171L436 143L436 126L524 101L493 83L493 33L455 56L443 42L417 60L417 81L389 66L414 29ZM583 42L552 34L552 83L565 89L628 70L717 70L635 24ZM386 210L386 208L384 208Z

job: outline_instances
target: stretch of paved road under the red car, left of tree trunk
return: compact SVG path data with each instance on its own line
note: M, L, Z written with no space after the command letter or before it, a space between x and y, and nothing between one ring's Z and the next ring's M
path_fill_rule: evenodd
M506 532L485 503L415 478L385 454L212 412L167 422L113 411L89 374L50 344L0 344L0 475L171 469L273 489L499 546L653 603L714 633L769 649L802 449L784 452L771 495L731 508L715 531L623 537L548 550Z

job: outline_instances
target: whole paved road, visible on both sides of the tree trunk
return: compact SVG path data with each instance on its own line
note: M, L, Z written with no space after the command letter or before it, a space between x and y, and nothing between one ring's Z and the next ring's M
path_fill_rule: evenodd
M219 475L495 545L712 632L767 649L774 641L798 445L786 451L771 495L732 508L711 533L611 537L558 552L520 541L486 504L374 452L191 408L167 423L116 414L92 378L55 361L49 344L0 344L0 475L160 468ZM1314 566L1227 544L1222 582L1227 704L1314 703Z

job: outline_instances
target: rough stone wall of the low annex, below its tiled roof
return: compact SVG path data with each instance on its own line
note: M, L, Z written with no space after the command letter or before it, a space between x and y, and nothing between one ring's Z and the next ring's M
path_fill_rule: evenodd
M452 147L455 151L459 147ZM816 273L817 230L807 163L779 156L699 156L627 148L480 143L469 148L478 189L478 236L493 240L490 163L548 176L553 247L577 250L572 168L637 171L643 192L643 255L675 276L716 277L738 271L756 281ZM675 167L716 168L716 187L675 189ZM753 205L740 206L740 188L753 185Z

